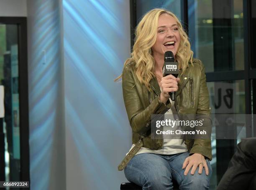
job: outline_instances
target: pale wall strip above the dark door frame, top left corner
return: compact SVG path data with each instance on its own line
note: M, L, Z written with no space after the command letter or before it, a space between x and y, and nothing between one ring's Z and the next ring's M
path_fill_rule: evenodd
M26 17L27 0L0 0L1 17Z

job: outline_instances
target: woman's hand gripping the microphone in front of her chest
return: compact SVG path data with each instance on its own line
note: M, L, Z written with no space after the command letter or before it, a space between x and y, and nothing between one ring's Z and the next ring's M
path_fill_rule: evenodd
M178 82L180 78L176 78L173 75L167 75L161 78L161 82L159 86L161 88L160 101L164 104L170 98L169 92L177 92L178 91Z

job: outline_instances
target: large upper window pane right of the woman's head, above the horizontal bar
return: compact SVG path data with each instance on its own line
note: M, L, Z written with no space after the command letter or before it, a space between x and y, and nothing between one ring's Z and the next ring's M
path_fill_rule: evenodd
M206 72L243 70L243 1L188 0L189 38Z

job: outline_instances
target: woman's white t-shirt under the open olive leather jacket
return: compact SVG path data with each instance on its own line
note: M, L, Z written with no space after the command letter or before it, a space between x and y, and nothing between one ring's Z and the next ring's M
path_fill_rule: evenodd
M171 115L168 115L168 118L173 117L173 114L178 114L177 110L175 109L175 106L174 106L174 101L172 101L171 99L170 99L170 101L172 103L172 107L164 114L165 116L167 116L167 114L171 114ZM173 119L174 119L174 117L173 117ZM175 118L175 119L177 119L177 118ZM134 146L135 146L135 144L132 145L131 149ZM131 149L129 150L129 152L131 151ZM171 154L184 153L184 152L187 152L187 146L185 145L185 142L182 138L181 139L166 139L166 138L164 138L163 147L161 149L151 150L149 148L141 147L140 150L138 151L138 153L136 153L136 155L141 154L141 153L155 153L155 154L171 155Z

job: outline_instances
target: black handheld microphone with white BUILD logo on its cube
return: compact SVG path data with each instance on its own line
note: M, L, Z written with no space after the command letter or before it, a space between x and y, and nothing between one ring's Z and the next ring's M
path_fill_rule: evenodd
M174 62L174 55L171 51L166 51L164 53L164 66L163 66L163 77L167 75L174 75L174 77L178 77L179 75L179 63ZM169 92L171 100L175 100L174 92Z

